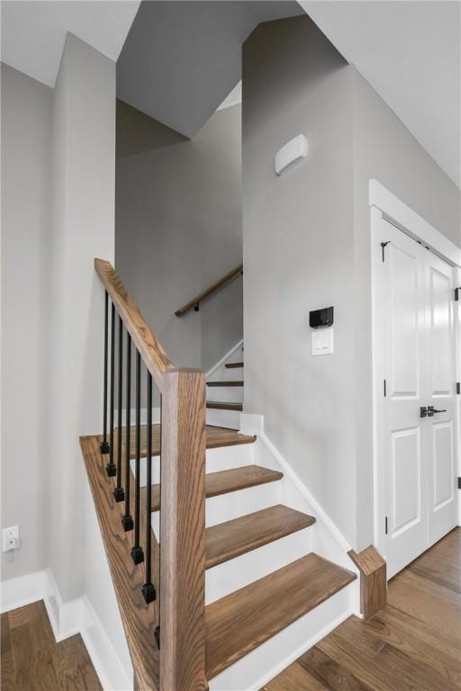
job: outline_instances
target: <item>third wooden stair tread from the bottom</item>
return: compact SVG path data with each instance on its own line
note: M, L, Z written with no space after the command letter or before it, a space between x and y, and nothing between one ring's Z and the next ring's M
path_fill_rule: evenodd
M209 472L205 476L206 497L217 497L220 494L235 492L238 489L276 482L283 477L282 472L271 471L259 465L246 465L242 468L232 468L230 471ZM158 511L160 507L159 490L159 485L152 485L152 511ZM141 492L146 493L146 488L141 488Z

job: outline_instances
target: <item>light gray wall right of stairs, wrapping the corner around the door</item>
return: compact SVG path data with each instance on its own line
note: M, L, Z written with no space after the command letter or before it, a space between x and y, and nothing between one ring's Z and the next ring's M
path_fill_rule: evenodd
M243 53L246 412L356 548L373 541L368 181L460 244L459 190L308 17L258 27ZM274 154L303 132L302 166ZM334 305L335 354L308 311Z

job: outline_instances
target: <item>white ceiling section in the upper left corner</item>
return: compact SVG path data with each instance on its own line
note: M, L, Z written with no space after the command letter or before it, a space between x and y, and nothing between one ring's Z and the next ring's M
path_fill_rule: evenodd
M139 5L136 0L3 0L2 62L54 86L68 31L116 60Z

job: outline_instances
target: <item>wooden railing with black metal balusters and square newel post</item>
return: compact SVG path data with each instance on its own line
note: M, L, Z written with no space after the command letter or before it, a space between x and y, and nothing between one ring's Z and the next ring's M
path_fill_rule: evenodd
M125 501L120 531L121 534L133 531L131 558L136 569L144 569L142 596L146 606L150 606L150 622L155 627L151 643L152 646L156 645L156 641L158 644L156 651L146 649L145 646L141 650L139 644L131 647L135 688L146 691L148 688L153 691L205 691L205 375L199 370L175 367L109 262L95 259L95 270L105 289L104 437L100 453L103 459L106 454L110 456L104 474L108 476L108 482L114 483L111 492L113 498L116 502ZM111 301L110 329L108 298ZM118 319L115 319L115 313L118 314ZM123 337L126 337L125 364ZM118 342L117 353L115 340ZM132 433L131 343L136 363L135 427ZM117 368L114 367L116 358ZM151 480L154 434L152 380L160 393L159 543L151 529L151 482L146 493L147 499L141 507L140 391L144 387L141 380L146 374L141 368L141 361L148 371L148 481ZM114 434L115 390L118 405L117 437ZM121 443L123 394L126 401L124 463ZM136 472L132 477L131 435L134 435L136 444ZM132 516L131 509L134 509ZM134 639L131 637L132 640ZM142 664L143 656L146 655L153 660L150 665L152 679L146 679L146 675L141 674L142 669L146 668ZM137 664L140 656L141 663Z

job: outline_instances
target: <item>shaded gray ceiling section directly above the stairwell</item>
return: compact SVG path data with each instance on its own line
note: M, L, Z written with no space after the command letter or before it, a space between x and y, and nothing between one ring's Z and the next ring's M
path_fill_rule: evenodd
M259 22L303 14L295 2L142 2L117 64L117 95L186 137L241 77L241 46Z

